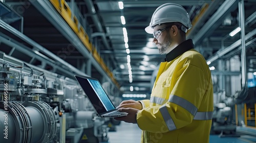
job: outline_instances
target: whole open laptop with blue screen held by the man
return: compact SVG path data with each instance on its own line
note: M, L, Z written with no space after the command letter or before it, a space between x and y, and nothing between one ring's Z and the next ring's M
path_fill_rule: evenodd
M86 93L99 117L120 117L128 114L116 109L97 79L76 75L75 78L83 92Z

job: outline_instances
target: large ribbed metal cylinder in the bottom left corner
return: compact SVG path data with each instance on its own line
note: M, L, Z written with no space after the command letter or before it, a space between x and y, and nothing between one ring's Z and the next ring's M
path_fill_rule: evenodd
M0 127L7 127L8 130L8 139L4 142L48 142L56 135L57 123L53 110L44 102L0 102L0 115ZM4 121L7 121L6 125L2 125L6 123ZM5 132L0 130L0 137Z

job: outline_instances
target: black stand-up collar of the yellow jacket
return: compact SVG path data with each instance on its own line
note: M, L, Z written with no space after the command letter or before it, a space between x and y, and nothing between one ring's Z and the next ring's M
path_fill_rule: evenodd
M188 39L188 40L180 43L178 46L175 47L174 50L172 50L172 51L170 51L170 53L166 54L164 60L167 62L172 61L190 49L194 49L194 44L193 44L192 39Z

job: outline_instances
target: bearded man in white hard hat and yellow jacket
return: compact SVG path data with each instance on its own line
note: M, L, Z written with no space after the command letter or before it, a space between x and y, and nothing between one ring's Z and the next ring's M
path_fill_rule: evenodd
M123 101L119 121L137 123L141 142L209 142L213 107L211 74L204 57L185 33L192 27L186 10L164 4L154 12L147 33L165 62L160 64L150 100Z

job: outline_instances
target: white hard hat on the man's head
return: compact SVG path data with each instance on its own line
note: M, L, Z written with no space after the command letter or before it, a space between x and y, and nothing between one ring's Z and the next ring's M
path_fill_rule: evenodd
M188 13L181 5L167 3L156 9L152 15L150 25L145 28L145 31L149 34L153 34L154 26L166 22L180 22L187 30L192 27ZM184 32L186 32L186 30Z

